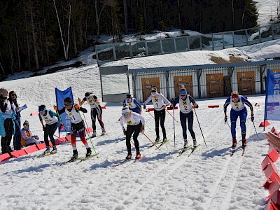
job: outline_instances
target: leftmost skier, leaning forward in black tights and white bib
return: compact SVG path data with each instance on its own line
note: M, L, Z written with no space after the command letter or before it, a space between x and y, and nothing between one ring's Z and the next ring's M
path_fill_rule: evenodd
M39 120L43 127L44 132L44 141L45 146L47 146L47 149L44 151L45 154L55 154L57 153L57 146L55 145L55 138L53 135L55 134L55 131L57 130L57 113L54 111L51 111L50 109L45 109L45 105L41 105L38 107L39 111ZM43 120L45 121L45 125L43 123ZM52 142L52 151L50 152L50 144L48 142L48 137L50 137L50 141Z

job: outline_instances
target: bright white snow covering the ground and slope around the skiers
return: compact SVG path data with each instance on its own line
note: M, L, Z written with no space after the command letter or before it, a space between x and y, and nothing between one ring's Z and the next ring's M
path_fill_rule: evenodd
M279 40L250 48L161 55L163 59L160 56L128 59L120 61L120 64L129 64L131 68L178 65L182 64L181 56L186 56L185 64L197 64L200 60L210 64L209 57L213 53L226 58L229 52L238 52L244 57L262 59L263 52L267 52L268 56L277 51ZM91 55L82 56L80 59L88 60L87 66L0 83L1 87L18 93L20 104L27 104L28 109L22 111L22 122L29 120L31 131L41 139L43 131L38 116L29 114L37 111L40 104L46 104L49 108L55 104L55 87L64 90L71 86L75 102L87 91L101 96L99 69L95 63L90 63ZM109 83L105 85L110 86ZM177 157L183 146L181 125L175 123L174 129L173 119L167 113L165 126L169 142L158 151L154 147L149 148L150 141L141 135L141 154L146 157L135 164L127 162L116 168L112 166L127 155L125 141L122 141L123 131L118 123L122 106L103 103L106 105L103 118L108 135L93 139L99 158L91 158L78 165L73 162L60 166L72 155L71 145L64 144L57 146L56 155L34 158L42 153L38 151L1 163L0 209L263 209L267 190L262 188L265 176L260 162L268 146L265 134L258 125L264 116L265 97L249 96L248 99L252 104L260 104L254 110L259 134L256 137L253 124L247 119L248 146L244 157L241 156L240 147L230 157L230 129L223 122L225 98L204 99L197 102L200 106L197 117L207 146L195 119L194 131L200 147L190 157L188 152ZM220 107L209 109L208 105L213 104ZM84 107L90 110L90 106ZM176 120L179 120L179 111L174 112ZM154 141L154 120L149 113L144 112L143 116L146 118L146 135ZM90 125L90 113L85 114L85 119ZM238 125L237 138L241 146ZM272 125L276 128L280 126L279 122L272 122ZM97 125L97 135L100 134L101 129ZM80 141L77 146L79 156L85 155ZM134 150L132 153L135 155Z

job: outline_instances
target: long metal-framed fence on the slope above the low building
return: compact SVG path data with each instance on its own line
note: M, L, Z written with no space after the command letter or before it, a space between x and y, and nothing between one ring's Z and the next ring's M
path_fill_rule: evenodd
M280 38L280 24L215 34L180 36L126 43L96 45L98 65L118 59L162 55L190 50L221 50Z

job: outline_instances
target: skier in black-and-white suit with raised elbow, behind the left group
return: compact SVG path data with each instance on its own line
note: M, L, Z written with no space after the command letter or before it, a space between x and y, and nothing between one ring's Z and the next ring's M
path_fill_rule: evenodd
M104 129L104 123L102 122L102 107L100 106L100 102L98 101L97 97L92 93L92 92L86 92L85 97L83 98L82 101L80 101L80 98L78 98L79 105L83 106L85 102L87 104L90 104L91 111L90 111L90 116L92 118L92 138L96 137L96 117L99 122L99 125L102 127L102 136L106 134L106 131Z

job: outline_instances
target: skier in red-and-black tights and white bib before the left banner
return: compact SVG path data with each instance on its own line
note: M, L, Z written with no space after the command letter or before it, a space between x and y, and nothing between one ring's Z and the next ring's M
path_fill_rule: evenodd
M54 106L54 109L57 110L57 106ZM87 148L85 157L89 157L92 153L90 146L88 146L87 140L85 139L85 125L79 111L87 113L87 110L83 107L78 106L78 104L75 104L75 106L73 106L72 99L69 97L66 97L64 99L64 107L61 110L58 110L59 115L65 112L66 115L71 118L71 145L73 148L73 156L71 160L76 160L78 158L78 151L76 146L77 132L79 134L80 140L85 145L85 148Z

